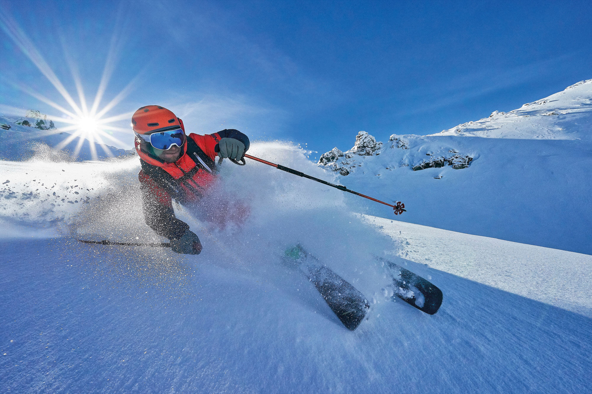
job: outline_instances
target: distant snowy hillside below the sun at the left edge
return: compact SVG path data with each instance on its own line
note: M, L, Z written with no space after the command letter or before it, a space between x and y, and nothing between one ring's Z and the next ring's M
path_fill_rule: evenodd
M91 142L86 138L73 138L59 149L60 143L72 134L53 128L40 130L35 127L16 124L27 119L0 114L0 123L9 125L8 130L0 128L0 160L28 160L35 156L49 160L96 160L107 157L131 156L134 151L115 148L106 144ZM34 119L28 119L33 123ZM61 146L60 146L61 147Z

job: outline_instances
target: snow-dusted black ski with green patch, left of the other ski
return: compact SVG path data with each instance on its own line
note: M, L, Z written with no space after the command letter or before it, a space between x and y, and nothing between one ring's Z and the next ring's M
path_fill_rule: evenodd
M284 262L304 272L345 327L352 331L358 328L370 308L358 289L300 245L285 251Z

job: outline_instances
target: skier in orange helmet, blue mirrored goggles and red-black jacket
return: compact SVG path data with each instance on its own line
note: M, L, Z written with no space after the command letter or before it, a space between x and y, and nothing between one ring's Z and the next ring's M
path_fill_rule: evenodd
M216 178L216 156L243 159L249 138L238 130L185 135L183 121L159 105L147 105L131 117L142 169L139 173L146 224L169 238L176 253L200 254L200 239L175 217L172 199L191 205L202 199Z

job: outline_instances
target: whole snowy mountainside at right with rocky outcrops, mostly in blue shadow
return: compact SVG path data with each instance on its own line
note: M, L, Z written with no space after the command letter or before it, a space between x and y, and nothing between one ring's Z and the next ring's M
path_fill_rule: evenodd
M434 135L383 144L360 132L319 164L350 189L403 201L404 221L592 254L592 80Z

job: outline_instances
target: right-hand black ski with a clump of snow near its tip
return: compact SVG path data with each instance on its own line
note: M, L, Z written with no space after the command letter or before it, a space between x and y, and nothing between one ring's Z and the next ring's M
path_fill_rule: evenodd
M378 261L385 264L388 273L392 276L394 296L413 305L426 314L435 314L442 305L442 290L432 282L414 274L392 261L377 257Z

